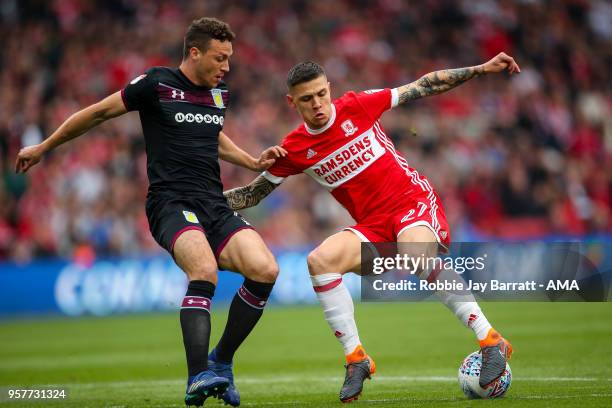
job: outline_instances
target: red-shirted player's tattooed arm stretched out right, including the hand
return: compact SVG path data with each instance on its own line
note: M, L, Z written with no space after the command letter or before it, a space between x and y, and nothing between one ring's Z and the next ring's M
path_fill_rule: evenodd
M398 102L405 103L424 96L437 95L477 76L504 70L508 70L510 74L521 72L514 58L501 52L481 65L430 72L414 82L397 88Z

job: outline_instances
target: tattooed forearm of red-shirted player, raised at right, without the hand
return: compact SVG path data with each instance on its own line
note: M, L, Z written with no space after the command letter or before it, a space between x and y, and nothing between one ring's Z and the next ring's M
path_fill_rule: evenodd
M446 92L483 74L482 66L430 72L408 85L400 86L398 88L399 103Z

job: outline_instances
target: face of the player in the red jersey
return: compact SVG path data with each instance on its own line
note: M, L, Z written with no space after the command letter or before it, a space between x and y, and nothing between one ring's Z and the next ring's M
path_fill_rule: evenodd
M297 84L287 95L293 106L311 129L325 126L331 116L331 94L325 75Z

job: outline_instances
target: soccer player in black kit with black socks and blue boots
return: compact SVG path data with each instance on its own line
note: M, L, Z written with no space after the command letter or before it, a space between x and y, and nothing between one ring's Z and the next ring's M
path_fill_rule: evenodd
M149 227L189 278L180 311L189 373L187 405L202 405L210 396L240 404L233 356L263 313L278 275L259 234L223 196L219 159L262 171L286 154L274 146L255 159L222 131L229 101L222 79L229 71L233 39L222 21L193 21L179 68L149 69L123 90L72 115L41 144L22 149L15 165L17 172L25 172L46 152L105 120L139 112L147 151ZM241 273L244 283L219 343L208 354L218 268Z

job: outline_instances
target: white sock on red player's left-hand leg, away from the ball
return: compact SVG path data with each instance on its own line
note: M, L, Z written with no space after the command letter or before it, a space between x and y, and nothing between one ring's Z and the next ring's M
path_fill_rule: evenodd
M342 343L344 354L351 354L361 344L361 341L355 324L353 299L342 282L342 275L326 273L311 276L310 279L317 298L323 306L325 320L336 338Z

